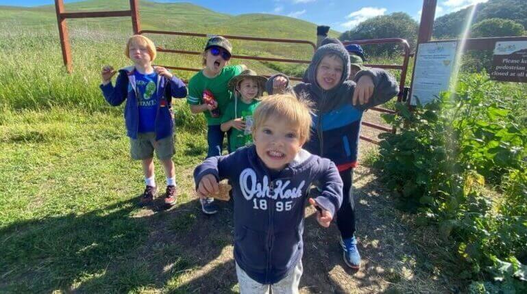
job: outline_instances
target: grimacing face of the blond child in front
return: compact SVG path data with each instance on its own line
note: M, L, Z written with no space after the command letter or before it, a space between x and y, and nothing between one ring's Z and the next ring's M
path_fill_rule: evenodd
M283 118L271 116L253 132L256 153L271 170L283 170L302 148L299 129Z

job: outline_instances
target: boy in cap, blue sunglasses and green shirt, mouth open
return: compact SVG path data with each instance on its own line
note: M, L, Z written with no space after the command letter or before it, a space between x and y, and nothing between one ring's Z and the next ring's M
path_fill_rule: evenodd
M212 36L203 51L204 69L188 81L186 101L191 106L192 113L203 112L207 120L207 158L221 155L223 149L225 132L221 131L221 117L232 100L228 83L232 77L247 69L243 64L227 66L231 52L232 45L229 40L222 36ZM211 94L214 98L212 102L209 100ZM204 213L208 215L217 213L218 209L213 198L203 198L200 202L201 211Z

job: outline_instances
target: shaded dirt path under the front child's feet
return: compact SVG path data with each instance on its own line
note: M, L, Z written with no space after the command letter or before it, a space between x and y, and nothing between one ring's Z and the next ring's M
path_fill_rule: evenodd
M371 135L371 134L370 134ZM361 142L361 155L376 148ZM181 191L193 191L192 170L180 181ZM394 208L382 190L376 171L359 167L354 179L358 217L357 237L363 266L345 267L335 224L321 228L314 209L306 209L304 275L301 293L450 293L452 282L439 269L444 252L433 230L417 229L412 217ZM149 258L151 248L169 248L167 258L151 263L156 289L177 293L237 293L232 258L232 204L221 203L217 215L201 213L193 194L180 197L170 211L140 210L152 230L138 256ZM438 261L439 260L439 261ZM154 291L156 292L156 291Z

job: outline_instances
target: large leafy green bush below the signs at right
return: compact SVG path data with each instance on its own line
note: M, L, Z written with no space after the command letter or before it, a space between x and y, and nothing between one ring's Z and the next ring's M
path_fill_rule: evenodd
M399 116L384 119L399 131L382 134L376 163L399 206L456 243L474 293L526 289L527 129L502 90L466 75L413 111L397 103Z

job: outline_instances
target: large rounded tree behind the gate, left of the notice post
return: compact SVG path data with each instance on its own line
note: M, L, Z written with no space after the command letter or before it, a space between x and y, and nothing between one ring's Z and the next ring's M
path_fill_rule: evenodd
M352 41L403 38L408 40L410 48L414 49L415 42L417 42L417 29L417 22L408 14L395 12L389 15L369 18L359 23L354 29L342 33L339 39L342 41ZM393 55L394 53L400 52L400 46L397 44L372 45L366 51L369 55Z

